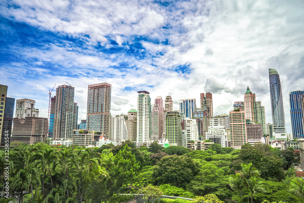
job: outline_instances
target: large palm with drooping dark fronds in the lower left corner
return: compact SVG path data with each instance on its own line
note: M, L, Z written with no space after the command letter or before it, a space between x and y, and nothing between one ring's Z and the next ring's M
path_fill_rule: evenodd
M20 150L16 149L17 153L14 156L13 162L14 167L17 171L15 179L12 181L12 188L15 188L16 185L21 182L21 197L20 201L23 203L23 190L29 190L31 187L31 193L33 198L33 184L35 185L35 189L37 191L38 186L40 185L40 174L38 170L35 168L35 154L31 153L28 148L24 148Z

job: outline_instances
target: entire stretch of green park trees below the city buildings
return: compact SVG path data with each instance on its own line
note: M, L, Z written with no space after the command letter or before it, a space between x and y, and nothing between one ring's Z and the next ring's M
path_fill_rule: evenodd
M292 162L298 150L265 144L241 149L211 144L206 151L163 148L157 143L137 148L126 141L98 148L76 145L26 145L10 148L10 193L24 203L117 203L144 194L156 202L303 202L304 180L295 177ZM4 171L4 150L0 170ZM0 185L5 175L0 173ZM22 194L27 191L29 194ZM5 202L6 199L0 200Z

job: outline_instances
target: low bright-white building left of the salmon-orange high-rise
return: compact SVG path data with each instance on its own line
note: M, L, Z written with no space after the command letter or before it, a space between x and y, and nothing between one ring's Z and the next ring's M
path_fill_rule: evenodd
M219 139L218 139L219 138ZM225 126L209 126L208 132L206 133L206 140L214 141L218 143L217 140L220 140L218 144L221 144L222 147L227 147L228 134Z

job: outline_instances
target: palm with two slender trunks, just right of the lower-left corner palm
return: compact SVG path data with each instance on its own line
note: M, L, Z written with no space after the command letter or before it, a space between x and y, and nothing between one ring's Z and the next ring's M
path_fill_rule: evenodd
M57 155L55 154L54 149L51 148L46 148L45 150L42 150L36 154L36 158L39 158L38 162L36 162L36 166L39 166L43 172L43 182L42 182L42 192L44 191L44 180L45 180L45 175L48 172L50 173L50 181L51 185L53 185L53 180L52 180L52 173L50 170L50 167L52 163L56 163L58 160Z

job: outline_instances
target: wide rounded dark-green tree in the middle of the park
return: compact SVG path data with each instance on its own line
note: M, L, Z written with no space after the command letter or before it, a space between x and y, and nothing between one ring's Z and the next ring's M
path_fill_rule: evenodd
M154 170L158 185L170 183L172 186L185 187L199 172L199 164L186 156L165 156Z

